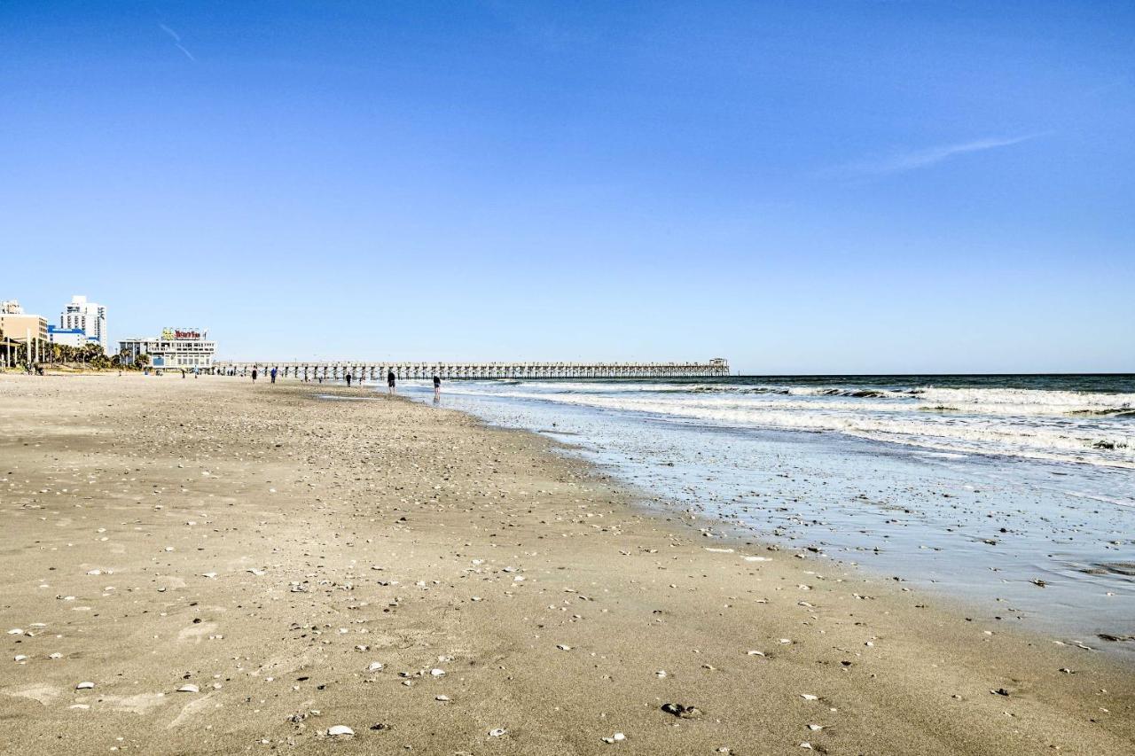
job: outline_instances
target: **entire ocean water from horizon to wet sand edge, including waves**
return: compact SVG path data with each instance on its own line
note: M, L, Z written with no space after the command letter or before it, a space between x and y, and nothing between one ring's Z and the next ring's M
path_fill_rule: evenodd
M1135 653L1135 376L447 381L669 506ZM411 396L432 401L428 386ZM709 541L707 541L709 543Z

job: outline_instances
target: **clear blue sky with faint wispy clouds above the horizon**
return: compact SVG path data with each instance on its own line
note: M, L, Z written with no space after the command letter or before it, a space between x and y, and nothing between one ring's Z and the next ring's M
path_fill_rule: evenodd
M0 3L0 299L222 356L1135 370L1130 2Z

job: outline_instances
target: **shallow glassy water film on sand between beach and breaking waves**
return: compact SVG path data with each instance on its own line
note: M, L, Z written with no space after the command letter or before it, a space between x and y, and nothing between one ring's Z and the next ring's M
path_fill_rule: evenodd
M428 387L403 388L432 401ZM554 436L763 539L960 597L975 616L1135 653L1135 640L1100 637L1135 635L1135 473L1125 467L562 402L499 381L445 389L443 406Z

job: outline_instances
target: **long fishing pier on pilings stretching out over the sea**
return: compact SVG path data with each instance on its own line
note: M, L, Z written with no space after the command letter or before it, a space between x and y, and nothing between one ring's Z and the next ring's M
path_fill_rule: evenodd
M400 379L434 376L446 380L462 378L711 378L729 375L729 362L715 358L708 362L272 362L218 361L215 372L247 376L253 369L267 372L276 368L284 378L342 379L352 376L377 380L393 371Z

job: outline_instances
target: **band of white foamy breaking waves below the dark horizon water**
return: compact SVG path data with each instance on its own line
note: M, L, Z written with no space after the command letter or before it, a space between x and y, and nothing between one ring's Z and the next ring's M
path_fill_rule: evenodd
M1135 394L569 381L466 384L453 390L684 422L841 432L943 452L1135 468Z

